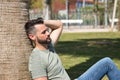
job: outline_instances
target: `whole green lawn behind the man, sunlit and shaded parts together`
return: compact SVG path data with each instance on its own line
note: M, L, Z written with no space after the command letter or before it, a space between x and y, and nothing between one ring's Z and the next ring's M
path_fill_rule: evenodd
M72 80L103 57L111 57L120 69L120 32L63 33L56 51Z

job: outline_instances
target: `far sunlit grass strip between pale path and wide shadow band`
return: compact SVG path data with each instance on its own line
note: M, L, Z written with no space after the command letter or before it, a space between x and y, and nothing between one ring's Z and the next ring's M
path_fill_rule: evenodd
M63 33L60 38L60 41L74 41L78 39L96 39L96 38L107 39L120 38L120 32Z

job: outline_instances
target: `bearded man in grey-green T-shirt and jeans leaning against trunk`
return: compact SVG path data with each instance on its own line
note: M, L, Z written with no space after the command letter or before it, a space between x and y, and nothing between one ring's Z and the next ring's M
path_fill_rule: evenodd
M58 20L38 18L25 24L27 36L35 47L29 59L29 70L34 80L70 80L53 48L62 29ZM108 57L98 61L76 80L100 80L104 75L110 80L120 80L120 71Z

